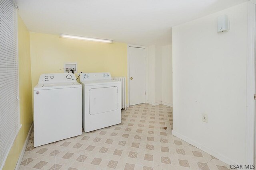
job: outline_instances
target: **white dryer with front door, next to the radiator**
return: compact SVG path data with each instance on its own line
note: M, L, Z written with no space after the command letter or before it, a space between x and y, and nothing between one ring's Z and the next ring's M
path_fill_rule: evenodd
M121 123L121 82L111 74L81 73L82 126L85 132Z

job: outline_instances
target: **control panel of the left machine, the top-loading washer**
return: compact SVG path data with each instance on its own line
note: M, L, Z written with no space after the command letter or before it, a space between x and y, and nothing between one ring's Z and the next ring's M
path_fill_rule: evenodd
M41 74L38 84L61 83L61 82L76 82L76 76L75 74L72 74L72 73Z

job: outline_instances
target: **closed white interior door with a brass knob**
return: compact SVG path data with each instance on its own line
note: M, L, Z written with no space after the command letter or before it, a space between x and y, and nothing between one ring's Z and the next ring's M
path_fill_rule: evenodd
M145 103L145 48L129 47L129 102Z

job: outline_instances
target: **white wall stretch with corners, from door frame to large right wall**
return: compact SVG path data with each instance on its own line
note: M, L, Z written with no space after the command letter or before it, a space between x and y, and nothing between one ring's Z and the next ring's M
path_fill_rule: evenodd
M148 103L172 106L172 45L148 47Z

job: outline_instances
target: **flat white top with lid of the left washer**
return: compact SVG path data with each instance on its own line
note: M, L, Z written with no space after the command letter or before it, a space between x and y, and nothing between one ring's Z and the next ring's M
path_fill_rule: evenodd
M82 87L82 85L78 82L37 84L34 87L34 90L49 90L49 89L76 88L76 87Z

